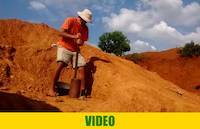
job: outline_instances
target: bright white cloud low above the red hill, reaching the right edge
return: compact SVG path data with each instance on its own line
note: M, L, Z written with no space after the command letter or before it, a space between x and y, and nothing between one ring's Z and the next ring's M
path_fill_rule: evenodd
M162 48L182 46L191 40L195 42L200 41L199 27L194 32L182 34L164 21L143 31L143 34L140 34L140 36L153 41L156 46L163 46Z

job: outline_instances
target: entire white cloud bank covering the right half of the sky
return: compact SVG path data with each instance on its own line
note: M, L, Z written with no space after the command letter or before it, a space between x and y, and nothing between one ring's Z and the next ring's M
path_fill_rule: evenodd
M102 20L108 31L123 31L133 45L146 51L178 47L191 40L200 42L199 12L200 4L195 2L141 0L137 9L122 8L119 14Z

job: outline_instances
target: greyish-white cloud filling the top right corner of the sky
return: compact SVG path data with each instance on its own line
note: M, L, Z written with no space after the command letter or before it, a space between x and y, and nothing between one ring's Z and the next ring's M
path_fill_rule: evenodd
M200 5L192 2L186 6L182 0L141 0L144 8L160 20L175 26L196 26L200 22Z

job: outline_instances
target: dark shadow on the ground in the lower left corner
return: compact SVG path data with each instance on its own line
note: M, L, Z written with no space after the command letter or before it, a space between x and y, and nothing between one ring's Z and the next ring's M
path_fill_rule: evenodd
M22 95L0 92L1 112L59 112L43 101L32 100Z

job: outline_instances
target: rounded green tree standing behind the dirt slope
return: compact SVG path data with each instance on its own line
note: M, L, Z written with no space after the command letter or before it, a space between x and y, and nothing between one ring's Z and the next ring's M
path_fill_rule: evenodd
M104 33L99 37L99 48L107 53L114 53L121 56L124 52L130 51L130 41L120 31Z

